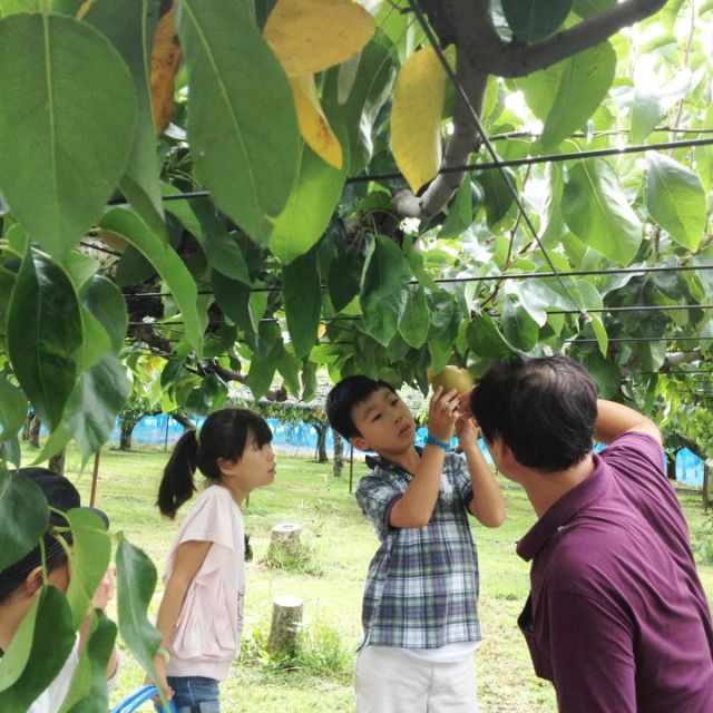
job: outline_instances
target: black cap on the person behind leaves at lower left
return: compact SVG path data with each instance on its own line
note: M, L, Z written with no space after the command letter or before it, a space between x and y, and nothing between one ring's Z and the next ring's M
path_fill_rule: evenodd
M47 500L47 505L50 506L50 508L56 508L57 510L67 512L67 510L71 510L72 508L81 507L79 491L75 488L72 482L65 478L65 476L60 476L49 468L20 468L14 477L25 477L35 482L35 485L37 485L42 491L42 495ZM101 510L98 510L97 508L87 509L91 509L92 512L96 512L96 515L101 518L106 527L109 527L109 518ZM62 549L57 538L51 534L52 528L67 527L68 525L69 522L59 512L55 512L50 509L49 526L45 534L45 554L48 561L50 561L52 557L57 556ZM62 537L68 543L72 541L71 531L62 533ZM41 564L42 557L38 545L25 555L25 557L10 565L7 569L0 572L0 579L8 576L17 576L18 574L29 574Z

